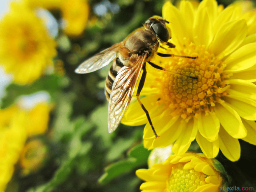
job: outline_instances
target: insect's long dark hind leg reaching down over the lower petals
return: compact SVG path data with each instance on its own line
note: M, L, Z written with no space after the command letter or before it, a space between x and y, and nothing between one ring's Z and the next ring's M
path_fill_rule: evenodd
M139 86L138 86L138 90L137 90L137 93L136 93L136 97L137 97L137 100L138 100L138 102L139 102L141 108L143 109L143 111L144 111L144 112L146 113L146 115L147 115L149 124L151 125L151 128L152 128L152 130L153 130L153 132L154 132L156 138L158 138L159 136L156 134L156 130L155 130L155 128L154 128L154 126L153 126L153 124L152 124L152 121L151 121L151 119L150 119L149 112L148 112L148 110L144 107L144 105L141 103L141 101L140 101L140 99L139 99L139 94L140 94L141 89L142 89L143 86L144 86L145 79L146 79L146 75L147 75L146 63L143 65L142 70L143 70L143 72L142 72L141 79L140 79L140 81L139 81Z

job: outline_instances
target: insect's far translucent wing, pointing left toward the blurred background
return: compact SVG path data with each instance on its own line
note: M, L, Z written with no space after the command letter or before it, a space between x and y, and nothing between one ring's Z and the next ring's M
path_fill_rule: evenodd
M92 56L88 60L84 61L81 65L79 65L76 68L75 72L90 73L93 71L97 71L102 67L105 67L116 58L117 51L120 49L120 45L122 45L122 42L116 43L115 45L97 53L96 55Z

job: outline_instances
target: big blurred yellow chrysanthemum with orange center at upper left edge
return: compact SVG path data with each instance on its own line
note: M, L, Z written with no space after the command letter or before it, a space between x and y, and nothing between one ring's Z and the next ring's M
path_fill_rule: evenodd
M31 83L47 65L52 65L56 43L42 20L27 6L11 3L0 29L0 65L14 75L14 82Z

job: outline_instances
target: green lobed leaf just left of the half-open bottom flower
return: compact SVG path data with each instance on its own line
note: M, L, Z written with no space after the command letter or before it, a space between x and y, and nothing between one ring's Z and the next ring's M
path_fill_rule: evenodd
M139 144L131 149L128 153L128 158L116 163L113 163L105 168L105 173L100 177L99 182L108 183L116 177L132 171L136 167L146 165L150 151L145 149L142 144Z

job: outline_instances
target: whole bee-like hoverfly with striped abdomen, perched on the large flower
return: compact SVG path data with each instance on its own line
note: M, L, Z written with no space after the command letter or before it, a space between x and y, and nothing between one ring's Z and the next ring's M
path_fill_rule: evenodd
M79 65L75 70L76 73L90 73L105 67L114 60L105 82L105 95L108 100L109 133L113 132L120 124L135 91L135 85L138 82L140 73L143 71L136 92L136 98L147 115L155 137L158 137L149 112L139 99L139 94L147 75L146 64L159 70L187 76L179 72L166 70L150 62L150 60L155 54L162 57L179 56L190 59L197 58L157 52L160 43L166 43L170 48L175 47L175 45L168 42L171 38L171 33L166 23L168 24L169 22L162 17L149 18L143 27L132 32L125 40L99 52ZM197 79L197 77L187 77Z

